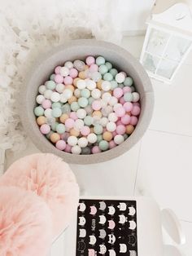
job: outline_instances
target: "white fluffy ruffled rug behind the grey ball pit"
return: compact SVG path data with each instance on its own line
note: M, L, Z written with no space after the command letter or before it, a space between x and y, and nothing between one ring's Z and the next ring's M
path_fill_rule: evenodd
M24 149L16 97L38 56L69 39L121 41L120 0L0 0L0 148Z

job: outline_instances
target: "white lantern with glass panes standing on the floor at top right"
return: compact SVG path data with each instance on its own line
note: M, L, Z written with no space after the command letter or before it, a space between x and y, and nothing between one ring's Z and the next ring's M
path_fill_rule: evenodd
M170 83L192 48L192 13L180 2L147 24L140 62L150 77Z

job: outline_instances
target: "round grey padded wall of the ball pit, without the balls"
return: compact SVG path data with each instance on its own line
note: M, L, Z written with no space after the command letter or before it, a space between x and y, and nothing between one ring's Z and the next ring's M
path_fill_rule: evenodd
M103 55L106 60L124 70L133 77L134 84L141 96L142 111L133 134L124 143L116 148L93 155L73 155L59 151L50 143L44 135L41 135L36 123L33 108L36 106L37 88L43 84L56 65L63 64L67 60L85 59L86 55ZM93 164L107 161L120 156L129 151L144 135L150 124L154 108L154 94L151 81L142 65L120 46L109 42L89 40L74 40L66 42L62 46L54 48L52 51L42 56L33 70L22 90L22 102L20 104L20 117L28 136L41 152L50 152L62 157L64 161L73 164Z

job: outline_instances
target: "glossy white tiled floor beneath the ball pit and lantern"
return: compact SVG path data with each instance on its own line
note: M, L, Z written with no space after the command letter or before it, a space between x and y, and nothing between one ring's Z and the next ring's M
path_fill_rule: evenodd
M122 46L137 59L143 37L124 38ZM184 228L183 250L192 255L192 53L172 85L151 80L155 90L155 111L142 141L112 161L92 166L75 166L81 194L150 195L161 207L175 211ZM29 143L28 152L37 152ZM20 155L7 155L7 165ZM126 161L126 165L124 162ZM124 182L125 181L125 182ZM62 239L52 256L63 256Z

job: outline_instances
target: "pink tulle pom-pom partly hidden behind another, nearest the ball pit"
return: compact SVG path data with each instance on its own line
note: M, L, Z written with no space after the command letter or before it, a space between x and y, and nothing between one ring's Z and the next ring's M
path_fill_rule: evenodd
M79 188L75 175L61 158L37 153L15 161L0 179L0 185L16 186L41 196L53 215L54 236L68 226L76 213Z

